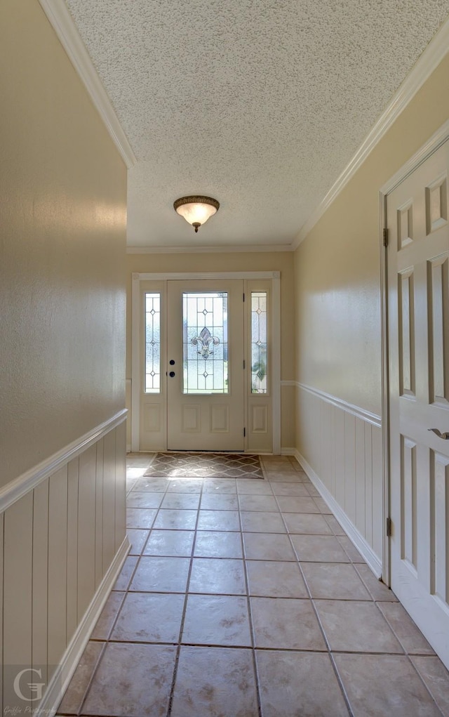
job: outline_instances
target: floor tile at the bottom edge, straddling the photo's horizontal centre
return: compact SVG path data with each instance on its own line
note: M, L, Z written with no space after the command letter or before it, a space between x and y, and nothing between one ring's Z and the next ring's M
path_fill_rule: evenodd
M181 647L171 717L258 717L251 650Z

